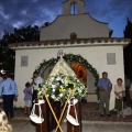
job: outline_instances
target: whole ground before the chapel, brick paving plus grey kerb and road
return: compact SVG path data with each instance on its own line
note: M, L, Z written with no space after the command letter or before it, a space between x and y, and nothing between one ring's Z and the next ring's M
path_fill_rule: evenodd
M132 116L125 118L100 118L96 103L82 103L82 132L132 132ZM10 121L13 132L35 132L35 127L31 124L29 117L22 111L15 111L15 118ZM67 132L66 123L63 131Z

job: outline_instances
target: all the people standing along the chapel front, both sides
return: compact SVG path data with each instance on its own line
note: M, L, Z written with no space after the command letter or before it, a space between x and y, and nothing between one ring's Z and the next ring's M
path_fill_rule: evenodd
M43 78L40 76L38 72L33 73L33 81L25 82L24 92L24 114L30 114L31 109L33 107L33 101L37 98L37 88L38 85L43 82ZM125 90L125 86L123 85L122 78L117 79L117 84L114 85L114 96L116 96L116 106L117 117L120 117L120 111L127 108L127 103L132 105L132 84L129 90L129 99L128 92ZM110 117L109 111L109 101L110 94L112 90L112 84L108 78L108 73L102 73L102 78L98 81L98 91L99 91L99 113L100 117ZM12 119L14 117L13 112L13 101L18 101L18 87L15 81L11 78L10 74L0 74L0 105L3 103L3 110L8 119ZM0 109L1 111L1 109ZM1 112L0 112L1 113Z

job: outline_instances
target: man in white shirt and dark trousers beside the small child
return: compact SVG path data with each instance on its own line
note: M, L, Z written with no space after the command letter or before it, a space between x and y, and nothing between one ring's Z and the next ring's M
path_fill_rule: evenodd
M38 72L34 72L33 73L33 82L32 82L32 86L33 86L33 95L32 95L32 102L34 101L34 99L37 98L37 88L38 88L38 85L43 84L43 78L40 76ZM33 107L33 105L32 105Z

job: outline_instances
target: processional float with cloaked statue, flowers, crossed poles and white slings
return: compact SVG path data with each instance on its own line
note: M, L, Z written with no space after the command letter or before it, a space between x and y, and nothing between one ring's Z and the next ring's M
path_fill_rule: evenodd
M51 72L47 80L45 80L44 84L42 84L42 87L37 89L38 99L34 102L30 119L38 125L46 120L45 120L42 113L43 108L41 106L47 103L57 124L54 129L55 132L64 132L61 125L64 118L66 118L69 124L69 127L67 125L68 132L80 132L81 129L79 128L76 129L77 131L74 130L74 127L81 125L81 121L79 121L81 119L79 118L78 120L78 112L80 114L81 111L77 110L77 105L79 105L78 102L81 100L81 97L85 96L87 90L85 85L76 77L74 70L64 61L64 52L58 52L58 55L61 58ZM59 117L56 116L51 100L54 102L61 102L62 111ZM35 108L37 108L37 114L35 113ZM74 113L70 113L70 109L73 109ZM41 129L38 130L36 128L36 132L50 131L47 129L43 129L42 125L40 127Z

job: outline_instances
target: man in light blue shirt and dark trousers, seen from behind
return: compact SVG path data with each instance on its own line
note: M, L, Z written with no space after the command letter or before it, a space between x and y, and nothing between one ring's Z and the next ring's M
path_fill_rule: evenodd
M0 96L3 98L3 109L9 119L14 117L13 100L18 100L18 87L10 74L6 74L6 79L0 84Z

